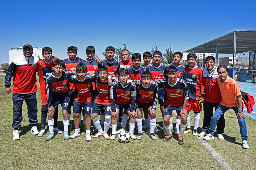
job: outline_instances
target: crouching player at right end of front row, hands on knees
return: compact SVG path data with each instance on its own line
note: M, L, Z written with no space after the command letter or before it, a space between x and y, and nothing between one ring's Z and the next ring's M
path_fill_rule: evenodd
M166 78L159 82L159 87L165 90L164 126L168 135L164 138L164 141L168 142L171 138L173 138L170 124L170 115L172 115L173 110L176 110L181 116L178 144L182 145L184 144L182 136L187 126L186 106L189 99L189 91L186 82L183 79L176 77L176 67L169 66L167 68L166 75L168 79Z

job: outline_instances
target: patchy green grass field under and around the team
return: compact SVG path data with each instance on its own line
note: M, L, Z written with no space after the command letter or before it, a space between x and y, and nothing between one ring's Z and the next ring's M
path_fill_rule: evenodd
M157 107L158 140L153 141L143 133L141 140L120 143L103 137L87 142L81 126L81 137L64 141L63 133L57 134L51 141L45 141L47 133L39 138L30 133L25 102L20 140L12 140L12 94L4 87L4 75L0 75L0 169L224 169L224 167L205 148L203 143L192 135L184 135L184 145L178 145L177 135L170 142L163 141L163 123L159 105ZM41 102L39 81L37 82L38 130L40 130ZM198 131L201 132L203 112L200 113ZM191 114L191 125L194 115ZM63 117L59 113L58 128L63 130ZM71 120L73 120L71 114ZM246 117L250 149L241 147L240 130L236 115L229 110L225 114L225 140L208 143L234 168L256 169L256 120ZM175 122L175 116L173 119ZM73 123L73 121L72 121ZM48 129L48 128L47 128ZM91 131L93 127L91 127ZM109 133L111 132L111 127ZM74 133L74 129L71 134ZM95 132L92 132L93 134ZM137 134L137 131L135 131ZM173 132L174 134L174 132ZM215 135L216 136L216 135Z

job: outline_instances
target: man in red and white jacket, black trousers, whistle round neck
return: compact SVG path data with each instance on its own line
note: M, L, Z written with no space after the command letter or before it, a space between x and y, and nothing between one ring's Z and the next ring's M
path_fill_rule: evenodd
M204 137L210 128L210 122L213 115L213 108L217 109L222 97L220 88L217 82L218 71L215 66L215 58L208 56L205 58L206 68L203 69L203 85L204 85L204 121L202 132L198 134L199 137ZM217 136L219 140L224 140L222 133L224 133L225 119L224 114L217 122Z

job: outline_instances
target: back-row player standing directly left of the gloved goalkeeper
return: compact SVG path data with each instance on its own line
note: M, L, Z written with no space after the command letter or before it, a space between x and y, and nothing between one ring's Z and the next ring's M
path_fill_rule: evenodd
M172 64L168 64L168 66L174 66L177 69L177 75L176 77L178 78L182 78L183 79L183 75L184 75L184 69L185 67L183 65L180 64L180 61L182 61L182 53L177 51L173 53L173 63ZM179 134L179 127L180 127L180 114L178 111L176 111L177 115L176 115L176 126L174 129L175 134ZM172 123L172 115L170 115L170 119L171 119L171 123ZM172 126L172 125L171 125Z

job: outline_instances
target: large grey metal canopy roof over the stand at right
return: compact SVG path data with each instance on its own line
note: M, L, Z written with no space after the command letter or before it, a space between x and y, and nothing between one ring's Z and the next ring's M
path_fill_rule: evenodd
M233 54L234 46L235 53L256 50L256 30L234 30L183 52Z

